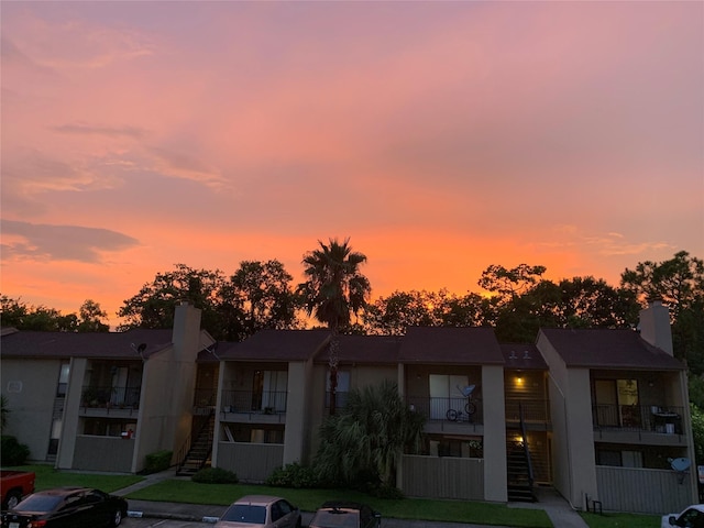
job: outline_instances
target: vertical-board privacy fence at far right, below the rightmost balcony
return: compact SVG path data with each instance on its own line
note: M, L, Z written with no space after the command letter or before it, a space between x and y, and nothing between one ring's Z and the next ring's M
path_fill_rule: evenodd
M596 485L602 507L612 512L662 515L696 502L690 475L680 483L672 470L597 465Z

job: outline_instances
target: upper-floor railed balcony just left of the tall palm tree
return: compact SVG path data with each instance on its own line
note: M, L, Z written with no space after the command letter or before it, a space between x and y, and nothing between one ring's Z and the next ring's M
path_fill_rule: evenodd
M223 421L283 424L286 421L285 391L223 391Z

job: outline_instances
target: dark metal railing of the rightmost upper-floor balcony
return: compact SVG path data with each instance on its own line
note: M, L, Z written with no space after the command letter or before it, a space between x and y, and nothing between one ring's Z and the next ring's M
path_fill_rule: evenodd
M683 407L657 405L593 405L594 429L682 433Z

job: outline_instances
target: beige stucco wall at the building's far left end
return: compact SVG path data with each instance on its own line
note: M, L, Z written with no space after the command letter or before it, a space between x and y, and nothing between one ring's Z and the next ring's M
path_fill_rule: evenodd
M7 398L6 435L30 448L30 459L45 460L61 360L2 359L0 380Z

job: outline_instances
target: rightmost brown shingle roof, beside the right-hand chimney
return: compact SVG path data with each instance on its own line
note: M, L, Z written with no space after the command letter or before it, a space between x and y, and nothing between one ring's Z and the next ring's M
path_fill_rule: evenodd
M684 370L667 352L634 330L541 329L566 366L588 369Z

